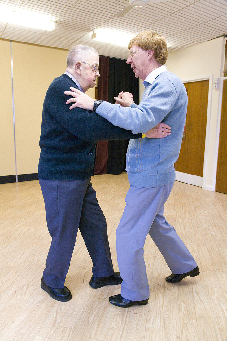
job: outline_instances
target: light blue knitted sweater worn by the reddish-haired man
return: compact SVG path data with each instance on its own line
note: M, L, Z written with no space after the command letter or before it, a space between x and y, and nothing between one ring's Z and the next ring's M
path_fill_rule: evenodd
M121 107L103 101L96 113L112 124L145 133L160 122L171 127L165 138L132 139L126 154L126 171L132 186L157 187L175 180L174 163L180 153L187 112L187 93L175 74L164 71L145 91L138 106Z

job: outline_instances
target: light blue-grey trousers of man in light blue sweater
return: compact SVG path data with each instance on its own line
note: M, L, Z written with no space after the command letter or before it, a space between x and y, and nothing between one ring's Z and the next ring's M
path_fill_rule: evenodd
M149 297L143 247L149 233L173 273L184 273L197 264L183 241L163 216L173 183L160 187L131 186L116 231L117 259L123 282L121 296L133 301Z

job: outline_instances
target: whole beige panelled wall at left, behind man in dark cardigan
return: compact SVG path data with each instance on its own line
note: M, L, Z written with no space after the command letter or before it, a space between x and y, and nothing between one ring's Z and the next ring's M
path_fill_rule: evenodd
M10 41L0 40L0 176L15 174ZM44 97L51 81L64 73L67 51L12 42L17 173L37 173ZM87 92L94 98L95 89Z

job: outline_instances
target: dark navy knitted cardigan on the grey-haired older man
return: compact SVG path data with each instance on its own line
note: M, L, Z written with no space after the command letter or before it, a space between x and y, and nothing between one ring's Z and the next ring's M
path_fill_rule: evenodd
M93 175L97 140L140 138L96 113L66 105L74 81L63 74L50 84L43 104L39 179L79 180Z

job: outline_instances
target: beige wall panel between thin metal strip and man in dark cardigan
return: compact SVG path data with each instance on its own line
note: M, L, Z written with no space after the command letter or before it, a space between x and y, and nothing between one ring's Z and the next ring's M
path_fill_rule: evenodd
M18 174L37 173L42 107L51 81L66 67L66 50L13 42Z

